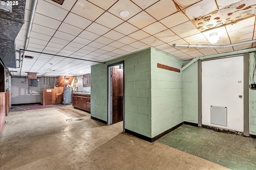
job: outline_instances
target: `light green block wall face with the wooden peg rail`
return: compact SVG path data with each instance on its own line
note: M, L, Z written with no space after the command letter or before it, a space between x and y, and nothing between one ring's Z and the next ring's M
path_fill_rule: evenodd
M151 50L152 137L183 122L182 72L157 67L157 63L180 69L182 61Z

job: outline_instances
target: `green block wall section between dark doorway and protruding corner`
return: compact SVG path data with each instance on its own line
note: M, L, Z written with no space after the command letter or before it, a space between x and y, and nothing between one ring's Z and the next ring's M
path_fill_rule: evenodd
M125 128L151 138L150 49L124 57Z

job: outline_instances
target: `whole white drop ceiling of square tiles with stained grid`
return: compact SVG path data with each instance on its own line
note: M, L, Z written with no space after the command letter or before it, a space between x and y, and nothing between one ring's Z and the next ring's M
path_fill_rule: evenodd
M26 0L25 23L16 37L16 50L24 49L31 1ZM38 72L38 76L82 75L90 73L90 66L96 64L93 61L105 62L148 47L181 60L255 47L256 43L226 49L173 47L174 43L228 45L255 40L255 3L254 0L65 0L60 5L52 0L38 0L27 49L52 55L27 51L26 55L34 58L24 59L21 75L26 76L25 72ZM204 21L209 14L217 18L216 11L220 10L240 18L208 30L195 24L196 18ZM240 16L237 10L253 10L253 14L250 11L251 15ZM128 11L129 16L121 17L121 11ZM203 25L212 20L204 21ZM214 44L208 41L212 32L220 37ZM16 56L19 59L19 53ZM10 71L20 75L20 68Z

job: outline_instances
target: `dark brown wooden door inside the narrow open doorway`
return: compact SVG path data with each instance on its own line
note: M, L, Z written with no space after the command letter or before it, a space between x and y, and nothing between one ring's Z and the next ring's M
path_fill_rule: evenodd
M112 67L112 123L123 121L123 69Z

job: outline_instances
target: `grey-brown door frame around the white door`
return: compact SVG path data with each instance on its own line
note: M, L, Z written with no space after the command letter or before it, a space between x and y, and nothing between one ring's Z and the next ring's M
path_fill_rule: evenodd
M202 127L202 61L244 56L244 135L249 135L249 53L198 60L198 127Z

